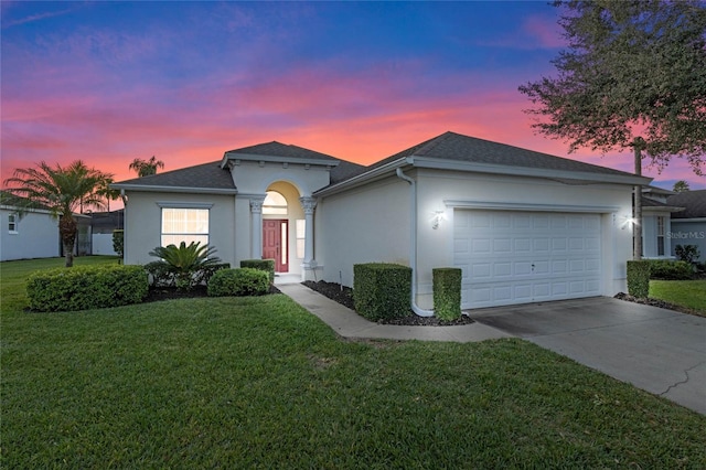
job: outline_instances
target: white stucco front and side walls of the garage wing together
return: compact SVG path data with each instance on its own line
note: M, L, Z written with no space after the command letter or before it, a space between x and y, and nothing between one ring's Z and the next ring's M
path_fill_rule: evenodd
M453 203L500 204L505 210L601 214L601 291L625 290L625 261L632 256L632 186L565 184L523 177L408 170L417 181L417 301L432 305L431 270L453 266ZM411 186L391 177L368 186L322 197L317 209L317 260L323 278L353 285L353 265L409 264ZM442 212L437 229L432 220Z

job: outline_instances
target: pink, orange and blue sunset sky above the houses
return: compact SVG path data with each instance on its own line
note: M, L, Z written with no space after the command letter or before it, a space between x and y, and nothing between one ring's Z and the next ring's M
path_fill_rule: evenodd
M1 2L2 179L83 159L135 178L277 140L368 164L447 130L567 154L517 86L553 75L559 11L536 2ZM654 184L687 180L673 159Z

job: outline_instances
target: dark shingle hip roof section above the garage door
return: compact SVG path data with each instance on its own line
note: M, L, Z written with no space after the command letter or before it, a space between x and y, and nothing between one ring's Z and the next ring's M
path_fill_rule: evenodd
M469 163L485 163L544 170L577 171L616 175L630 175L624 171L577 160L556 157L548 153L522 149L505 143L492 142L456 132L445 132L438 137L418 143L399 153L381 160L368 169L406 157L427 157L442 160L454 160Z

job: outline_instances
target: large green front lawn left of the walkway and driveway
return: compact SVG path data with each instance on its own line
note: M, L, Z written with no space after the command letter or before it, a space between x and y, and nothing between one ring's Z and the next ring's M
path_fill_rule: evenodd
M28 313L40 265L0 264L1 468L706 467L706 417L522 340L342 341L282 295Z

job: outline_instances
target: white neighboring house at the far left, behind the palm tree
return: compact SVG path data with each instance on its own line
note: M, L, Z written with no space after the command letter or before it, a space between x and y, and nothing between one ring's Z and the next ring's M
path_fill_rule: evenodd
M60 256L58 220L42 209L19 211L13 201L0 191L0 261Z

